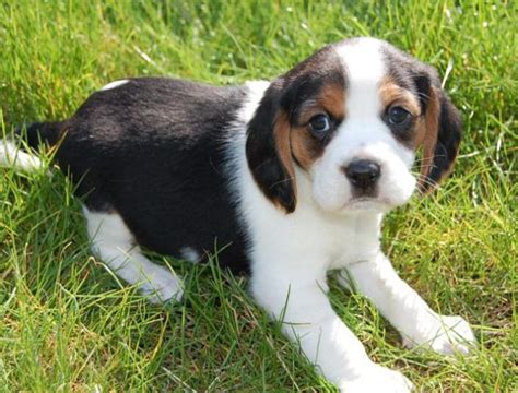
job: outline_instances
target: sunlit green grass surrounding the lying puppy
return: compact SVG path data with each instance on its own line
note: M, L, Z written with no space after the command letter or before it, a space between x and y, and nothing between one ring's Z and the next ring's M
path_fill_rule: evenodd
M516 2L193 3L2 1L2 132L66 118L127 75L274 78L357 35L388 39L442 74L451 63L446 87L466 123L456 171L388 216L384 245L435 309L473 324L480 349L467 358L403 349L364 298L334 284L330 297L369 355L420 390L516 392ZM186 277L185 302L151 306L90 255L59 172L0 169L0 391L333 390L254 305L244 278L167 262Z

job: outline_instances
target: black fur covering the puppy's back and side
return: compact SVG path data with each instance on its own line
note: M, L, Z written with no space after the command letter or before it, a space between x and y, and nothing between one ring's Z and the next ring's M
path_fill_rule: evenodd
M179 257L225 249L248 270L225 172L225 140L245 91L141 78L91 95L62 128L56 158L93 211L121 215L137 241Z

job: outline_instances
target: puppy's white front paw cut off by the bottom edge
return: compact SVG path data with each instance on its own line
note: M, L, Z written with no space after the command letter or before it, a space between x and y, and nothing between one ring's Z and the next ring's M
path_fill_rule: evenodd
M399 371L373 366L360 377L340 383L342 393L408 393L414 385Z

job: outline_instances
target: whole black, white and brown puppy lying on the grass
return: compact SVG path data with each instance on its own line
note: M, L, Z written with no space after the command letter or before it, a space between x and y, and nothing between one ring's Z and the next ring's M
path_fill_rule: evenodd
M32 124L27 141L58 146L92 251L152 301L179 299L181 279L140 246L197 262L216 243L220 263L250 274L256 301L283 318L284 333L330 381L346 392L405 392L411 383L375 365L334 313L327 274L346 270L404 345L469 350L468 323L435 313L379 242L385 213L449 174L460 134L433 68L355 38L272 82L114 82L71 119ZM13 142L0 154L37 166Z

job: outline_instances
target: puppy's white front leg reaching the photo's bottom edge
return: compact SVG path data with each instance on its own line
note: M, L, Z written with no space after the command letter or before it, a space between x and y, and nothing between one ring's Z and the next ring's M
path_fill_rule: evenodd
M412 384L403 374L368 358L362 343L332 310L326 275L311 272L310 265L289 269L271 263L255 269L251 289L256 300L282 321L284 334L341 391L409 392Z

